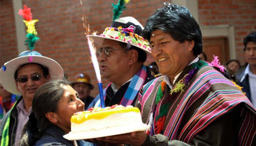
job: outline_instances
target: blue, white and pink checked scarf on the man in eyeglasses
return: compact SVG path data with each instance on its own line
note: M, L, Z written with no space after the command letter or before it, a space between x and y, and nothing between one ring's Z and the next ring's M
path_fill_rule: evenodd
M140 88L144 84L146 77L147 77L147 68L146 68L146 66L143 65L142 68L139 70L139 72L137 72L132 77L132 80L131 80L131 82L130 82L124 96L122 97L121 102L120 102L121 105L127 106L127 105L132 104L133 100L138 95ZM107 88L109 88L110 84L108 85ZM104 101L106 99L106 89L107 88L105 88L103 90ZM100 100L98 100L97 103L95 104L95 107L100 107L100 106L101 106L101 102L100 102Z

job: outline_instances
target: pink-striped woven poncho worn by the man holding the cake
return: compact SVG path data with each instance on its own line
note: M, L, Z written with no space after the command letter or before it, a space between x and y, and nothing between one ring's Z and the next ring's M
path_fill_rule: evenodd
M147 100L150 100L148 97L151 94L154 94L154 100L156 100L156 94L153 93L154 86L157 80L162 80L161 77L155 79L154 81L149 82L143 88L143 95L139 94L138 99L141 104L141 112L143 114L143 107ZM167 123L166 129L162 131L163 135L168 137L169 140L180 140L186 143L192 141L195 135L202 131L210 123L214 122L216 119L220 118L222 115L230 112L238 104L245 104L246 106L241 112L241 126L239 127L238 135L238 144L239 145L251 145L252 139L255 135L256 126L253 125L256 121L255 117L255 108L248 100L248 98L239 90L216 90L211 95L208 95L206 100L200 105L199 108L195 111L192 118L185 124L184 127L180 127L183 116L187 112L188 108L199 99L206 91L209 91L214 84L226 84L228 86L234 86L231 81L227 80L220 72L212 69L210 66L205 66L200 69L195 77L192 78L193 82L189 83L189 87L184 88L183 93L179 92L176 95L175 100L180 99L180 102L175 107L175 111L171 116L171 119ZM191 81L192 81L191 80ZM158 89L161 87L161 83L157 85ZM140 92L142 93L142 92ZM142 98L143 97L143 98ZM176 102L176 101L173 101ZM151 102L150 102L151 103ZM155 107L155 102L153 102L151 110L155 113L148 115L147 123L152 123L150 135L155 134L155 118L159 115L160 107ZM159 101L161 104L161 101ZM173 109L174 105L170 106L170 109ZM145 111L146 112L146 111ZM253 115L254 114L254 115ZM154 118L154 119L153 119ZM153 120L152 120L153 119ZM179 128L182 128L181 132L178 133Z

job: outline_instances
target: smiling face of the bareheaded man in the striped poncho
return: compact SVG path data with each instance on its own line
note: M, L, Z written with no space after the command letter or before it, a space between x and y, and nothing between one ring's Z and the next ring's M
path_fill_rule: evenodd
M175 41L171 35L161 30L151 33L151 54L157 62L159 72L169 76L171 80L195 59L194 45L193 41Z

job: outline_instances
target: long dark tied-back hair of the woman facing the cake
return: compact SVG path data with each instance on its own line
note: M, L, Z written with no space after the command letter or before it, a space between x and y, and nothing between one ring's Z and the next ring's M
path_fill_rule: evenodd
M45 129L52 125L46 118L48 112L57 112L67 80L52 80L42 85L34 94L29 121L22 130L20 146L32 146L41 138Z

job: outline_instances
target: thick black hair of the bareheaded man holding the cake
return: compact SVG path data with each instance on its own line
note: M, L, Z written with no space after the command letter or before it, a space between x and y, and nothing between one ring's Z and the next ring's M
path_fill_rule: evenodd
M161 30L170 34L180 43L194 41L193 54L199 55L203 50L202 33L189 9L176 4L164 3L150 18L143 30L143 37L150 41L151 33Z

